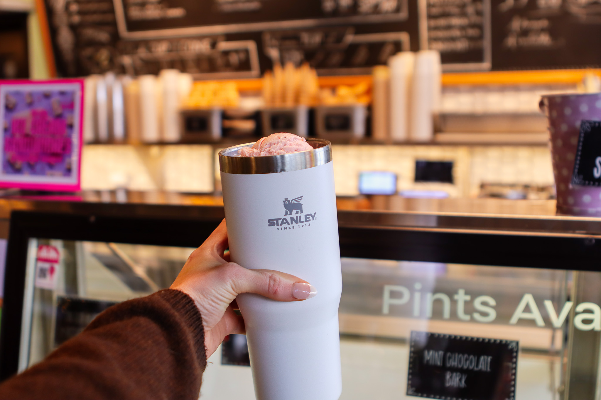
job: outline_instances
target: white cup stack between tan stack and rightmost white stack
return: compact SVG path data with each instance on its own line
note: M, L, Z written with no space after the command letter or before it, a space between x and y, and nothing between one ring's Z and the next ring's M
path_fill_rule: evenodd
M390 68L390 137L393 142L409 140L409 104L413 80L412 52L400 52L388 60Z

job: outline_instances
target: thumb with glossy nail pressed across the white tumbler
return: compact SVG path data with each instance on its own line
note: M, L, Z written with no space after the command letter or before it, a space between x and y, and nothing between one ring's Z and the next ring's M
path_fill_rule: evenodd
M307 300L317 290L304 279L270 269L246 269L238 266L231 284L236 293L257 293L280 302Z

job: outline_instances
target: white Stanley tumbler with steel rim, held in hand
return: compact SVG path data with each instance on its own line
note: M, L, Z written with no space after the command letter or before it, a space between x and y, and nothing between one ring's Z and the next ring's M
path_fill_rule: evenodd
M342 290L332 147L240 157L219 152L231 260L296 275L317 289L301 302L240 294L258 400L336 400L342 391Z

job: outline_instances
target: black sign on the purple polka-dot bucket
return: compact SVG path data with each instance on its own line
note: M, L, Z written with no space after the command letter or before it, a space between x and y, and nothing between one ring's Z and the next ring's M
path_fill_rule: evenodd
M572 185L601 185L601 122L582 120Z

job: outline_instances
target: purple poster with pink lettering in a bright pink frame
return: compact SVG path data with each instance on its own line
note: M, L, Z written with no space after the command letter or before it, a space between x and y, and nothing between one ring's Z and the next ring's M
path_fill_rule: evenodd
M84 80L0 80L0 187L80 187Z

